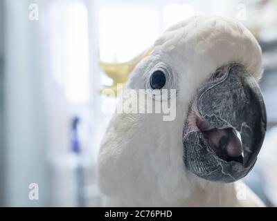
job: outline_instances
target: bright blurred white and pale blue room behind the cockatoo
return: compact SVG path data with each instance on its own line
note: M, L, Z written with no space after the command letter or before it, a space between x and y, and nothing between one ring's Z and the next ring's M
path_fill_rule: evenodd
M96 159L111 117L102 110L115 102L105 107L111 98L98 92L113 83L98 61L132 59L202 14L240 20L262 46L268 133L245 182L277 206L276 0L0 0L0 205L100 206Z

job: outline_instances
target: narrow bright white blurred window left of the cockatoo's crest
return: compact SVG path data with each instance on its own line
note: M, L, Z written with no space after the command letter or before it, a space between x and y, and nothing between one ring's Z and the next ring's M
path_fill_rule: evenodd
M82 1L53 1L49 10L53 75L69 104L89 102L87 8Z

